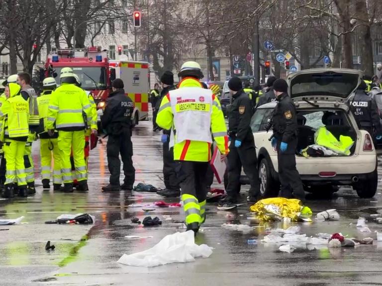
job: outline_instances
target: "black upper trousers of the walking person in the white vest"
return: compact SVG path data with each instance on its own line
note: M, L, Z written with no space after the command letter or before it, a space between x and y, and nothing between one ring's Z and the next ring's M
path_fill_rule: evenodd
M207 197L206 172L209 162L179 161L177 174L180 180L182 195L194 196L198 202Z

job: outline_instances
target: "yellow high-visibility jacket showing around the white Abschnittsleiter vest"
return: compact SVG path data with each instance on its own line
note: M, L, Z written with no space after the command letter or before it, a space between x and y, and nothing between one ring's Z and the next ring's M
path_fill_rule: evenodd
M202 88L200 82L192 77L186 77L179 83L179 89L183 87ZM157 115L159 127L170 130L174 125L174 114L170 103L170 96L164 96ZM217 96L213 95L211 111L211 132L214 141L222 154L228 153L227 128L224 115L221 111ZM176 135L175 135L176 136ZM211 159L211 143L202 141L185 140L174 145L174 159L181 161L208 162Z

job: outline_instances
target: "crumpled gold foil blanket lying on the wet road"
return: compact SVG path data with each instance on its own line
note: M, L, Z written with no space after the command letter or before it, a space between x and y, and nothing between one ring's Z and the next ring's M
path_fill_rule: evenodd
M283 220L285 217L292 221L312 221L312 211L296 199L263 199L251 206L250 210L256 213L261 221Z

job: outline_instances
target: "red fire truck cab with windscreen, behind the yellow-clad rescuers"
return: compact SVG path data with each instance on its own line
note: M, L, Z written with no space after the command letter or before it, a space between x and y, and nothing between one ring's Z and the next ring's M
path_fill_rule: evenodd
M96 103L106 100L111 86L106 51L102 51L101 47L53 51L45 63L45 75L56 77L59 84L60 71L65 67L72 68L80 77L82 88L92 91Z

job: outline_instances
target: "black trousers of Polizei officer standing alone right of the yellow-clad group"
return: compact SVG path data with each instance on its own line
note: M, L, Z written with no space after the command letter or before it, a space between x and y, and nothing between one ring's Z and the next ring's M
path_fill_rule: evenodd
M123 162L124 183L133 187L135 181L135 168L133 166L133 143L131 142L130 129L123 128L121 134L109 135L106 145L107 167L110 172L110 184L119 185L121 173L121 154Z

